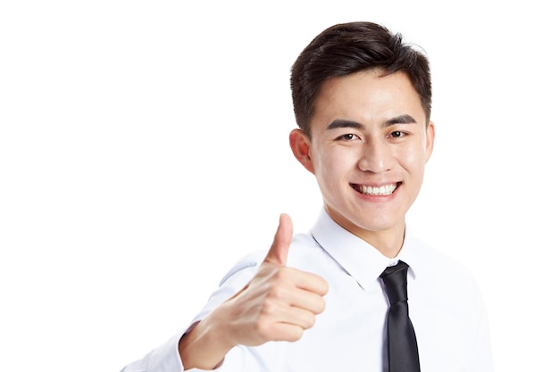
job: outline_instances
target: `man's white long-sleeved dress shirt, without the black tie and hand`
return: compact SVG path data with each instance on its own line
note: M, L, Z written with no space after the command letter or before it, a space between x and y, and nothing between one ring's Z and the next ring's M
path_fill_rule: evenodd
M254 252L223 277L193 324L237 293L258 269L266 252ZM222 372L385 372L388 299L380 273L397 260L408 270L410 318L417 335L421 370L493 370L488 322L479 289L455 260L421 243L406 229L396 259L388 259L321 211L309 234L294 236L289 267L313 272L329 283L326 308L314 327L295 342L270 342L229 351ZM123 371L178 372L179 335Z

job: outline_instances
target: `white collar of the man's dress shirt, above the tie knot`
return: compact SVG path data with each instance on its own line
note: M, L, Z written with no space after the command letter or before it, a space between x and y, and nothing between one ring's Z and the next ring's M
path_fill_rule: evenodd
M416 240L407 226L404 244L394 259L385 257L371 244L339 226L324 209L311 229L311 234L322 249L365 290L378 285L380 274L388 266L395 265L398 260L403 260L409 265L413 279L421 267L421 254L413 248Z

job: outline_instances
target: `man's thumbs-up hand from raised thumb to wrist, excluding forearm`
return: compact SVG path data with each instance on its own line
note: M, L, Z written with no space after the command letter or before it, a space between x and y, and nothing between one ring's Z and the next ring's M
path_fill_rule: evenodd
M324 310L328 283L321 277L286 267L293 226L287 214L270 251L253 279L222 304L230 343L248 346L267 341L296 341Z

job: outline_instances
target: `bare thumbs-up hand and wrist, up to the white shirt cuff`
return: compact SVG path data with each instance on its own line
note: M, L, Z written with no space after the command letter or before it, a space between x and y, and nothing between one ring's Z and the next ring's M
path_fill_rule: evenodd
M293 225L287 214L254 277L221 303L179 343L185 369L211 369L236 345L296 341L324 310L328 283L313 273L288 268Z

